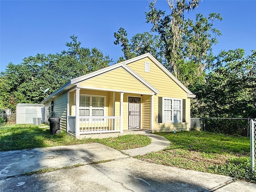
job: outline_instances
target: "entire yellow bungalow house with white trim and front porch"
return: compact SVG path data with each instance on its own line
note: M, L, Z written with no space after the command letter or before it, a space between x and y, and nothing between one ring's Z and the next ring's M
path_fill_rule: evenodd
M194 97L146 53L74 78L43 103L45 122L61 117L60 128L79 137L132 129L189 130Z

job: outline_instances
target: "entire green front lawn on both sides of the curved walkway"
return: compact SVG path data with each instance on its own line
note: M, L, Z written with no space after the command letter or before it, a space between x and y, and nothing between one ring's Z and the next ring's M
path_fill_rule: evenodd
M167 138L171 142L170 146L136 158L165 166L222 174L239 180L256 182L255 172L250 171L250 138L193 131L156 134ZM0 140L0 151L91 142L124 150L150 144L150 138L142 135L78 140L68 136L64 131L61 134L50 135L49 128L32 125L13 125L0 129Z

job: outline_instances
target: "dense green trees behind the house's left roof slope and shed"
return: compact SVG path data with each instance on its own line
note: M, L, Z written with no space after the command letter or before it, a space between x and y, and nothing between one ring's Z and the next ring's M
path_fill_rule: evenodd
M9 63L0 74L0 108L14 112L18 103L40 103L46 94L40 90L50 88L48 94L72 78L105 68L112 59L97 48L81 47L76 36L67 42L68 50L60 54L36 54L14 65Z

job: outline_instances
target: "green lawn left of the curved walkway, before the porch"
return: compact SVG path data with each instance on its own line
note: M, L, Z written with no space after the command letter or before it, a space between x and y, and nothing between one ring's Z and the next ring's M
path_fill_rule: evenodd
M92 142L98 142L117 150L124 150L147 146L151 142L150 138L143 135L124 135L115 138L87 138L78 140L72 136L68 136L64 131L61 134L50 135L49 128L34 125L13 125L6 129L0 129L0 140L0 151Z

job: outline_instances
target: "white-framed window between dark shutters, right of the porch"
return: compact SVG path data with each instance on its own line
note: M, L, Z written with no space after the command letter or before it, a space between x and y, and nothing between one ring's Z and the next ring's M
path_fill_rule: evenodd
M182 100L162 98L162 122L182 122Z

